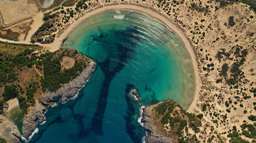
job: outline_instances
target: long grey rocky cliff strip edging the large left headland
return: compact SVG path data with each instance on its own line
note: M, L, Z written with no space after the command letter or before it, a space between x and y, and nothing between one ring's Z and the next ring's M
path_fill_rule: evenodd
M43 122L46 120L44 117L44 113L46 112L46 107L52 106L55 102L64 103L68 101L70 98L76 96L77 92L86 82L88 82L92 73L95 69L95 62L90 61L88 67L86 67L76 79L73 79L70 83L63 85L62 88L58 89L56 92L46 92L40 98L38 98L38 102L35 107L32 107L29 110L28 115L23 120L23 136L25 138L29 138L32 135L32 132L37 127L37 122Z

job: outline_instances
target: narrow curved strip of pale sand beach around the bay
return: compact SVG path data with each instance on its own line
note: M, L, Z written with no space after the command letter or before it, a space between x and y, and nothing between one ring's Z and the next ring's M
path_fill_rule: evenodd
M131 11L137 11L139 13L147 14L150 17L155 18L156 20L161 21L165 26L168 27L171 31L173 31L177 36L179 36L180 40L182 41L183 45L185 46L186 51L189 54L189 57L191 59L192 69L194 70L194 95L192 98L191 104L186 108L187 111L192 110L191 108L195 107L195 102L198 100L198 97L195 95L198 95L198 92L200 91L201 86L201 80L197 69L197 58L193 51L192 44L189 42L189 39L186 37L185 33L182 31L182 29L171 22L170 19L167 17L164 17L164 15L159 14L157 11L146 9L145 7L140 7L137 5L129 5L129 4L117 4L117 5L107 5L101 8L95 8L94 10L90 11L89 13L86 13L83 15L83 17L80 17L79 20L75 21L74 23L70 24L69 27L65 31L67 33L62 33L59 38L56 38L53 43L47 44L46 46L50 47L58 47L61 48L64 40L67 38L67 36L76 29L79 24L81 24L84 20L86 20L89 17L92 17L94 15L104 13L105 11L110 10L131 10ZM58 49L52 49L53 51Z

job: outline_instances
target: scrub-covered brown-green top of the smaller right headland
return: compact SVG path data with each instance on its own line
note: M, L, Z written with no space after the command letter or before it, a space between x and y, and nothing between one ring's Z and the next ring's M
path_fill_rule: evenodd
M162 132L167 133L174 142L198 141L195 133L200 132L203 114L196 116L188 113L173 100L160 102L152 113Z

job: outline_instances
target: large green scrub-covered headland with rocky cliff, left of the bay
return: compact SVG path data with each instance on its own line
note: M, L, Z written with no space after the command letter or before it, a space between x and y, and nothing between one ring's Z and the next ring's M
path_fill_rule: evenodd
M75 97L91 77L95 62L74 49L64 48L49 52L32 45L16 44L17 49L8 43L7 46L7 51L0 52L3 81L0 88L1 113L9 117L13 105L11 102L5 102L16 98L19 100L18 105L24 119L12 120L21 125L14 126L10 118L8 120L7 117L1 116L0 126L3 130L0 135L7 141L19 142L19 130L29 139L37 123L46 120L46 107Z

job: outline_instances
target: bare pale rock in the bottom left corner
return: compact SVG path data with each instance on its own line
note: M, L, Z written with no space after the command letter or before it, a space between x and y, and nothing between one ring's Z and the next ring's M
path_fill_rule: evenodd
M3 115L0 115L0 119L0 138L11 143L20 142L20 132L17 126Z

